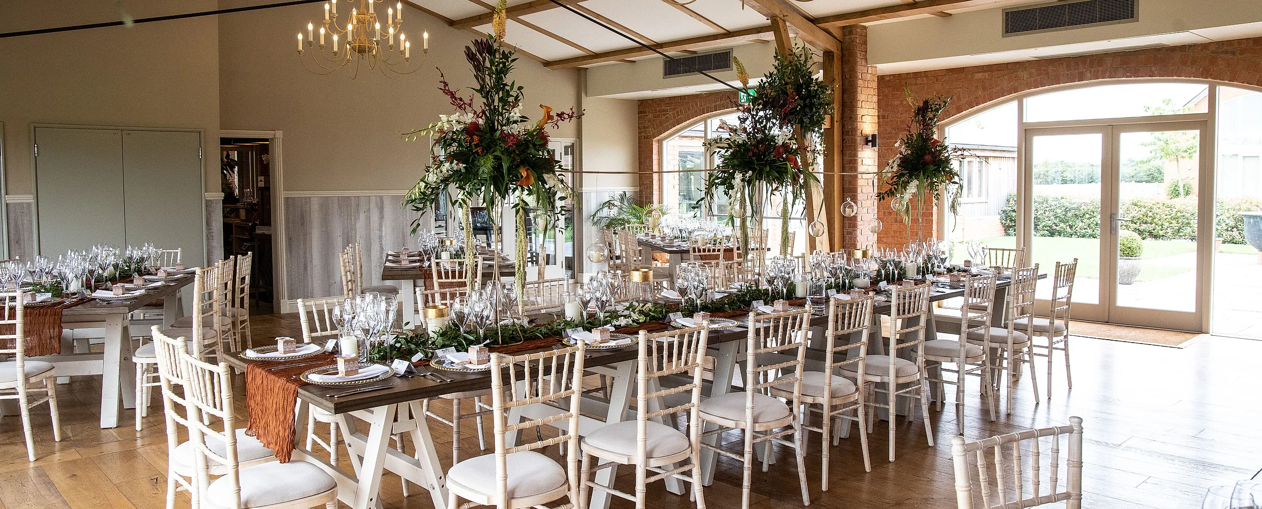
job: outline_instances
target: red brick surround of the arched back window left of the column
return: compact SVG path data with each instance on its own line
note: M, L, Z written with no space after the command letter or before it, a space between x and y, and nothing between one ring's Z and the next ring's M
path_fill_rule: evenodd
M697 93L692 96L644 100L639 103L641 199L654 200L661 192L661 141L673 131L697 123L719 112L736 110L736 92Z

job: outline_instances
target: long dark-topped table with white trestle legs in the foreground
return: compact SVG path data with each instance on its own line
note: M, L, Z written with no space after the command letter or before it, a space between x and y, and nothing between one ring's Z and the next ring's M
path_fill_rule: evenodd
M1000 287L1002 289L1006 289L1010 285L1010 281L1000 282ZM930 300L940 301L960 296L963 296L963 290L955 289L935 291ZM887 314L890 311L890 302L880 302L875 311L876 314ZM878 316L873 316L873 321L877 324L877 328L880 328ZM933 320L930 320L926 334L933 334ZM822 338L823 335L818 334L817 336ZM746 338L747 331L743 328L711 333L709 353L714 357L716 362L713 378L714 383L709 384L708 397L721 396L732 391L731 380L736 373L737 362L741 360L741 353L743 352ZM875 334L873 338L880 338L880 335ZM880 344L881 341L876 340L873 343ZM808 357L813 362L822 360L823 350L811 349L809 350ZM584 369L607 375L610 383L610 399L597 401L591 396L584 397L584 413L603 415L603 418L597 420L587 416L582 417L579 421L579 435L586 436L599 426L621 422L628 416L634 418L634 413L631 413L630 408L632 407L631 398L635 383L636 358L637 350L634 348L588 352L588 357L584 360ZM228 355L226 360L239 369L245 369L246 364L250 363L250 360L242 359L237 355ZM442 464L438 460L434 441L429 431L429 423L424 417L424 411L422 409L422 402L429 398L442 397L444 394L490 388L491 375L486 372L438 373L451 378L452 382L438 383L425 377L394 377L385 382L377 382L377 384L389 386L390 388L387 389L342 398L331 398L327 394L345 391L343 388L312 384L300 386L298 388L298 398L300 401L338 416L339 430L343 440L348 445L348 450L351 451L351 465L353 466L355 474L347 474L327 461L309 454L308 451L304 451L302 449L302 441L299 441L299 446L294 449L294 457L310 461L332 475L337 480L338 500L351 505L352 508L369 509L375 506L379 500L381 475L385 470L390 470L403 479L428 489L435 509L449 509L447 508L447 488L444 485L445 472L442 471ZM398 420L396 417L401 412L408 412L409 418ZM531 406L511 413L509 416L509 423L520 422L519 420L522 417L538 418L546 415L555 415L558 412L563 411L545 404ZM370 430L367 435L356 431L353 418L369 422ZM300 421L302 420L299 420L299 422ZM564 426L563 422L560 425ZM392 435L405 432L411 435L413 443L416 447L415 457L408 456L389 446L390 437ZM514 443L515 436L510 438L510 443ZM298 440L298 435L295 435L295 440ZM707 440L713 441L716 437L712 436ZM716 452L703 450L703 484L709 485L713 481L714 465ZM616 476L616 467L604 469L598 472L597 481L606 484ZM680 486L680 484L675 480L670 480L670 483L668 483L668 489L676 494L684 493L683 486ZM593 491L589 506L593 509L607 509L608 503L610 498L607 494Z

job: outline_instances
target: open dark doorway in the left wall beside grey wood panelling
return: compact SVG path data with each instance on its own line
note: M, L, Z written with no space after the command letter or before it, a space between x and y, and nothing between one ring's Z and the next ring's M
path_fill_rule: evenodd
M220 139L220 173L223 192L223 256L254 253L250 272L250 314L269 315L276 309L271 266L273 189L271 140Z

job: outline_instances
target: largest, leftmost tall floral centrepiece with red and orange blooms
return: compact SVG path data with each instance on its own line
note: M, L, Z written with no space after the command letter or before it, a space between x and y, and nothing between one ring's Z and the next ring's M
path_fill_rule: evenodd
M496 9L495 34L477 39L464 48L464 59L473 71L477 87L469 96L452 89L445 76L439 72L439 91L456 108L453 115L439 115L438 122L425 129L405 132L406 140L429 136L433 156L425 175L404 197L403 203L424 215L434 204L454 188L451 202L466 208L461 217L464 231L464 252L476 253L473 224L469 207L481 204L491 212L509 202L516 215L516 289L522 295L526 267L526 214L534 215L536 224L549 224L567 214L569 208L559 205L570 197L569 185L558 173L560 163L548 149L548 129L570 121L581 113L573 110L553 113L553 108L540 105L543 113L531 123L521 113L524 87L509 79L517 62L512 49L502 44L505 37L505 1ZM413 232L420 219L413 222ZM476 271L466 271L468 287L475 285Z

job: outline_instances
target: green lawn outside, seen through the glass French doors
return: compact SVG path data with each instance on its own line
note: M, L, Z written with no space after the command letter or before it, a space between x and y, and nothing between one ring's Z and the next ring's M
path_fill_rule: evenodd
M1016 237L992 237L981 239L982 243L993 247L1015 247ZM1040 271L1050 272L1056 267L1056 262L1068 262L1078 258L1078 276L1087 278L1099 278L1099 239L1095 238L1034 238L1034 263L1039 263ZM1196 243L1191 241L1143 241L1143 260L1165 258L1174 254L1190 253L1196 251ZM1222 244L1220 253L1256 254L1257 249L1248 244ZM963 244L955 246L954 262L959 263L968 254ZM1140 272L1138 281L1155 281L1176 276L1193 267L1172 267L1162 265L1145 263Z

